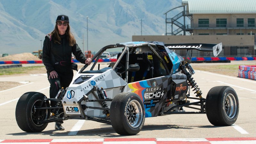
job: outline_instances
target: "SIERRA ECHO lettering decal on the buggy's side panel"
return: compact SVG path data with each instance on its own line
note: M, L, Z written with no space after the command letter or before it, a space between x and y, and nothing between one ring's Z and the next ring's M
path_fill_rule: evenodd
M152 83L153 87L148 87L144 92L144 105L146 108L155 107L156 104L162 99L164 90L161 87L156 86L156 82Z

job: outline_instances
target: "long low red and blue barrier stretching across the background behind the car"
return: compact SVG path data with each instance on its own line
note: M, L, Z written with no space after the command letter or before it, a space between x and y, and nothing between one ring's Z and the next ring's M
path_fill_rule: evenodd
M116 62L117 59L99 59L98 62ZM195 57L191 61L194 62L226 62L230 60L256 60L256 57ZM78 60L71 60L71 62L79 62ZM95 62L93 60L92 62ZM28 61L0 61L0 64L29 64L29 63L43 63L42 60L28 60Z

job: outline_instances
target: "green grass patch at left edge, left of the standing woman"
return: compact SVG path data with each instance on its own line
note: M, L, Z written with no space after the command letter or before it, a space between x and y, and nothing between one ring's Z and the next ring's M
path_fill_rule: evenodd
M0 68L0 75L23 74L32 70L40 70L44 66L18 67L18 68Z

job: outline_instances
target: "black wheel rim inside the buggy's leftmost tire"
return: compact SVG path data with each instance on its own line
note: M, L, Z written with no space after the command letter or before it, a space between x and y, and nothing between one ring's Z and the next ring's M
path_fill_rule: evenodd
M31 109L31 118L35 125L41 126L43 124L39 123L38 121L46 120L48 116L48 110L47 109L35 109L39 108L41 105L42 100L36 100L32 106ZM46 103L44 102L41 107L47 107Z

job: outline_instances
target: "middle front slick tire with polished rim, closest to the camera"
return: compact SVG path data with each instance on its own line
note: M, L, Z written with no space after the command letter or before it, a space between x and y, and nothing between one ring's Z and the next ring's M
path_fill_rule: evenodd
M133 92L116 95L110 105L110 121L120 135L139 133L145 122L145 108L140 97Z

